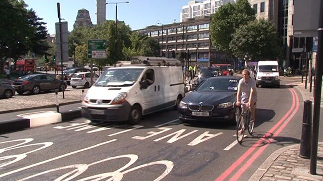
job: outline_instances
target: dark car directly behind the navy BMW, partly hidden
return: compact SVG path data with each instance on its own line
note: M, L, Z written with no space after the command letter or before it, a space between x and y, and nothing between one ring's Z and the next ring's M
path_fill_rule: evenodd
M195 78L192 79L194 87L198 87L205 79L222 75L222 71L218 67L201 67L197 70Z

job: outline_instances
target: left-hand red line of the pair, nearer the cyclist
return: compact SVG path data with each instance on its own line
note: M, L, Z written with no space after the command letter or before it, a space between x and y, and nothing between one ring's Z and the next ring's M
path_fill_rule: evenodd
M273 132L291 114L291 112L295 108L296 94L294 95L293 91L291 91L290 89L288 89L288 90L292 93L292 98L293 98L292 106L288 110L288 112L269 131L267 131L267 133L265 135L263 135L261 138L259 138L259 140L255 144L253 144L251 146L251 148L249 148L236 162L234 162L225 172L223 172L221 174L221 176L218 177L215 181L224 181L239 165L241 165L241 163L246 159L246 157L249 156L253 152L253 150L255 150L257 148L257 146L259 146L262 143L262 141L265 140L266 137L268 137L270 135L270 133Z

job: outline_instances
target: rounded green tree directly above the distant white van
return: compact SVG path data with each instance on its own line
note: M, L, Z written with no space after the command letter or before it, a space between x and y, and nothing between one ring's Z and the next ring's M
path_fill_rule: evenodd
M251 60L277 59L281 54L277 31L264 19L241 26L233 36L230 49L236 57L247 54Z

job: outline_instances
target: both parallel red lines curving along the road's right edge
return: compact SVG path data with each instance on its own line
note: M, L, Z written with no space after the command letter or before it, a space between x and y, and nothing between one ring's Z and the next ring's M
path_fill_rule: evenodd
M260 156L260 154L267 148L269 143L273 142L273 138L278 136L278 134L286 127L286 125L289 123L289 121L292 120L292 118L295 116L296 112L299 109L299 98L296 94L295 90L288 89L292 94L292 106L288 110L288 112L283 116L283 118L278 121L269 131L266 132L259 140L251 146L236 162L234 162L223 174L221 174L220 177L218 177L215 181L224 181L227 179L227 177L234 172L234 170L242 165L242 162L247 159L247 157L258 147L261 146L261 144L266 143L264 146L260 147L251 158L249 158L241 167L240 169L232 176L229 181L238 181L238 179L241 177L241 175L246 171L250 165ZM279 127L280 126L280 127ZM278 128L279 127L279 128ZM278 129L277 129L278 128ZM277 129L277 130L276 130ZM276 130L276 132L274 132ZM273 135L270 137L271 133Z

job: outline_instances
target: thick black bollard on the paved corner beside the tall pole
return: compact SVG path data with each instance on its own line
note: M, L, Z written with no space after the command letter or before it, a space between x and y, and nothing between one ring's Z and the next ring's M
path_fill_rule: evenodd
M311 158L312 101L304 101L300 157Z

